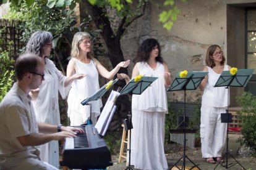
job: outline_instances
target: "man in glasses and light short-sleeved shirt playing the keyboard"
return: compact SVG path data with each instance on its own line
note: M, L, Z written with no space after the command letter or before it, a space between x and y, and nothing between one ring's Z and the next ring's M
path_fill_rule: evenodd
M0 103L0 169L57 169L40 160L35 146L84 132L36 122L28 94L40 86L44 71L45 60L35 54L23 54L15 62L17 83Z

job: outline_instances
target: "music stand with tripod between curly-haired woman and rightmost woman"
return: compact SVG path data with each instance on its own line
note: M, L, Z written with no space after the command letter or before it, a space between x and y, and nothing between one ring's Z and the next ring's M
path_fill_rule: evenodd
M179 72L179 73L181 73L181 72ZM176 166L177 169L182 170L182 169L186 168L186 158L192 164L194 164L194 166L192 166L191 169L193 169L195 167L198 168L198 166L192 160L190 160L189 157L186 155L186 91L197 89L197 87L199 86L201 81L207 75L208 71L189 71L187 73L186 78L181 78L179 76L179 73L177 73L176 78L174 79L171 86L167 89L167 91L168 92L169 91L184 91L184 116L183 116L183 121L182 121L183 128L184 128L183 129L183 132L184 132L183 155L171 167L171 168L173 168L174 166ZM178 127L179 127L179 125L178 125ZM179 161L181 161L182 159L183 159L183 164L182 164L182 168L180 169L179 166L177 166L177 163L179 163ZM198 168L198 169L200 169L200 168Z

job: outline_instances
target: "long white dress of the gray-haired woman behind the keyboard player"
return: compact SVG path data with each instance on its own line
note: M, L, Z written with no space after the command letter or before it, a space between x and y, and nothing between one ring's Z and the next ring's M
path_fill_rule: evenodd
M40 85L38 97L32 101L35 108L35 115L38 122L48 124L60 124L59 97L58 91L64 98L68 89L64 88L66 76L56 68L54 63L45 59L45 80ZM46 144L38 146L40 158L56 168L59 168L59 144L52 140Z

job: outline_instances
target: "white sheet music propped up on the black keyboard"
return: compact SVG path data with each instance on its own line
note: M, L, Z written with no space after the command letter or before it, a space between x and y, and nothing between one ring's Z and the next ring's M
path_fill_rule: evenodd
M119 95L120 95L119 92L116 92L116 91L111 92L105 104L105 107L101 111L100 118L95 124L95 128L97 129L98 134L100 134L101 136L105 136L109 123L114 115L114 111L116 110L116 105L114 104L116 103L116 99Z

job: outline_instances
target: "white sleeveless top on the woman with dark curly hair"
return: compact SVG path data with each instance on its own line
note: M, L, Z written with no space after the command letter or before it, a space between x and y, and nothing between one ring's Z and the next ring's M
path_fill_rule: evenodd
M168 113L166 89L164 86L164 65L157 63L153 70L148 63L138 62L139 74L158 77L142 94L132 95L132 109L142 111L163 111Z

